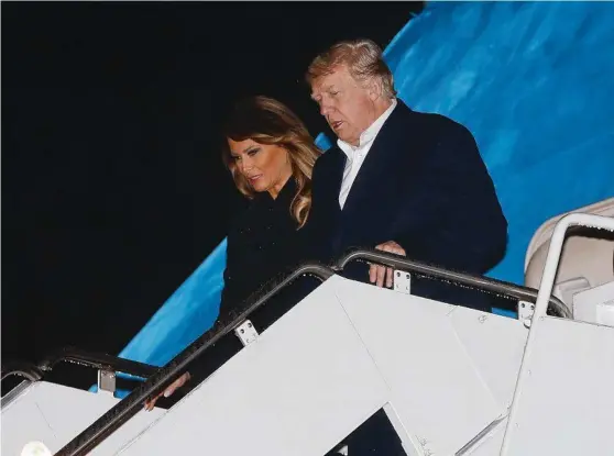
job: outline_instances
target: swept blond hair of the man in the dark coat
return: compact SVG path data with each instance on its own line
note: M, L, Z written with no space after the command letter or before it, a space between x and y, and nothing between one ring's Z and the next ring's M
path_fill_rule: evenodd
M305 79L307 84L319 77L332 74L339 66L346 65L350 75L364 82L377 78L381 84L382 96L394 98L393 75L382 56L382 48L371 40L349 40L333 44L328 51L318 55L309 68Z

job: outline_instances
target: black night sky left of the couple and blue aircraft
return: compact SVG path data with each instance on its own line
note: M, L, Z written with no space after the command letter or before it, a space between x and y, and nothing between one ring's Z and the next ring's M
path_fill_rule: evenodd
M409 2L2 2L2 359L116 354L244 204L218 131L338 40L385 47Z

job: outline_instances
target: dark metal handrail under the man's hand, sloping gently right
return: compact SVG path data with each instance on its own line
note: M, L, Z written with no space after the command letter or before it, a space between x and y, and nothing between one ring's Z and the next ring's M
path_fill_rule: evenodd
M336 264L336 270L343 270L348 263L353 260L364 260L379 263L395 269L402 269L407 273L421 274L425 276L436 277L441 280L449 280L456 283L474 287L480 290L491 291L503 296L520 299L525 301L536 302L538 291L533 288L523 287L516 283L511 283L503 280L491 279L489 277L475 276L468 273L453 271L443 269L437 266L428 265L426 263L415 262L404 256L391 254L382 251L374 251L368 248L355 248L343 255ZM571 313L567 305L560 299L550 296L548 303L552 310L566 319L571 319Z

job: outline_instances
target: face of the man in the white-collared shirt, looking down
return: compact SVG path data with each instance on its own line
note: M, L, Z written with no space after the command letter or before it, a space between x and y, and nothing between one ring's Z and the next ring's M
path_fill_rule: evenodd
M377 119L373 85L354 80L346 65L315 79L311 98L335 134L349 144L358 145L361 133Z

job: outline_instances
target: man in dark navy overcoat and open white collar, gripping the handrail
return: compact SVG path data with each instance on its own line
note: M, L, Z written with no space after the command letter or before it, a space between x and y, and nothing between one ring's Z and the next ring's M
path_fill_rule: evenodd
M311 98L338 136L316 163L310 230L318 259L375 247L484 274L503 257L507 222L471 133L396 98L381 48L370 40L333 45L310 64ZM392 286L382 266L348 275ZM429 279L415 294L490 311L487 297Z

